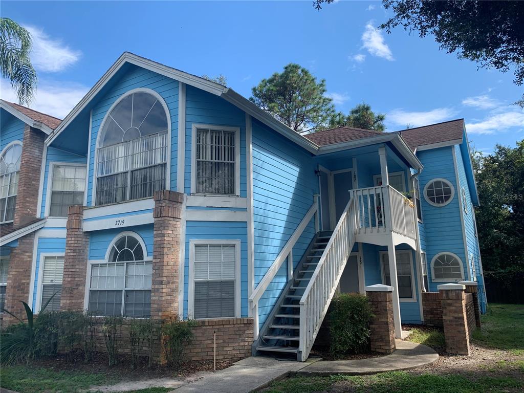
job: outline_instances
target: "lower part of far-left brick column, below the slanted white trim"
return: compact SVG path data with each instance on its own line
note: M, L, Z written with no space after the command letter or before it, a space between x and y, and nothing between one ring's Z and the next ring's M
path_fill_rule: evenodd
M26 312L21 301L29 302L29 305L32 306L32 299L29 300L29 287L34 242L34 232L18 238L18 246L13 248L9 255L4 308L21 319L26 319ZM3 324L9 325L16 322L18 321L13 316L8 313L3 314Z

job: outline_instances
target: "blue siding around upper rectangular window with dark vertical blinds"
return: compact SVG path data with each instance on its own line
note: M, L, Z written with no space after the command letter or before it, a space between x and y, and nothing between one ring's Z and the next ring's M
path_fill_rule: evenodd
M192 126L209 124L240 128L240 196L245 197L246 189L246 115L233 104L221 97L187 86L185 89L185 193L191 192L191 144Z

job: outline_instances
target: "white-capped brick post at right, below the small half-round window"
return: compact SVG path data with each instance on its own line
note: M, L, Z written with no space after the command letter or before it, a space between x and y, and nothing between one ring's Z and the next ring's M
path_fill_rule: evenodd
M465 286L444 284L438 286L442 302L442 322L446 352L470 354L470 334L467 328Z

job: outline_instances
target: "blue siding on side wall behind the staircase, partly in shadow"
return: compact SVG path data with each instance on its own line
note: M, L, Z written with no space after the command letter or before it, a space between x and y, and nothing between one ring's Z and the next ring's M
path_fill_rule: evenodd
M309 152L253 120L253 216L255 285L296 230L318 193L316 164ZM293 248L296 266L314 236L308 224ZM262 325L288 281L287 263L277 272L258 304Z

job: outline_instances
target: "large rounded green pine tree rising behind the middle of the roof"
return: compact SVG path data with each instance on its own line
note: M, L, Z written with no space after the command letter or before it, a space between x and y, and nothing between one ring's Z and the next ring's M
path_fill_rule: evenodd
M323 127L335 115L325 80L298 64L289 63L253 89L250 100L295 131Z

